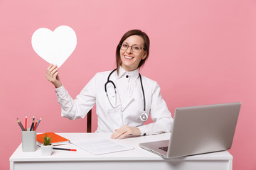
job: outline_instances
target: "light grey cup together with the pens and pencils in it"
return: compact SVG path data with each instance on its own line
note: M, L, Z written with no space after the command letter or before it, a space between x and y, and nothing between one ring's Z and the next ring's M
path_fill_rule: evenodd
M27 128L27 117L25 119L25 128L23 127L20 120L17 118L18 125L21 127L22 130L22 151L23 152L35 152L36 151L36 129L38 128L38 125L40 123L41 119L39 121L36 121L33 117L33 121L30 128Z

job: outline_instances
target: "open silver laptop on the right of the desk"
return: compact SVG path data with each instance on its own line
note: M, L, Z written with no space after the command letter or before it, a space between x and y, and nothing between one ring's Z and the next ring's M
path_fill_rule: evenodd
M241 103L176 108L170 140L139 146L166 159L230 149Z

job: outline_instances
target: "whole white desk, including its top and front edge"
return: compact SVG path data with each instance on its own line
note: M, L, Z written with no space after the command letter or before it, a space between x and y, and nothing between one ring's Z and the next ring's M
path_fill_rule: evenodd
M69 140L106 137L110 138L110 134L96 133L58 133ZM183 157L179 159L163 159L156 154L152 154L139 147L141 142L151 142L156 140L168 140L170 133L160 135L130 137L124 140L118 140L125 145L134 147L135 149L116 152L111 154L94 155L80 149L75 145L62 145L64 148L78 149L77 152L53 150L51 156L42 156L41 148L37 147L36 152L22 152L22 146L19 145L14 154L10 157L11 170L35 170L35 169L196 169L196 170L231 170L233 157L225 152L215 152L210 154L200 154L191 157Z

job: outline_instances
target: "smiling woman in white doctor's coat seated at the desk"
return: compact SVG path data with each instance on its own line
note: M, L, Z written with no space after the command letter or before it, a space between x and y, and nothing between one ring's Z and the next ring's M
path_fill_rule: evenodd
M148 56L146 33L129 30L117 45L117 69L95 74L75 99L61 83L58 67L50 64L46 78L55 86L61 115L72 120L84 118L96 103L96 132L112 132L114 139L171 132L173 118L159 85L139 74ZM143 125L149 114L154 123Z

